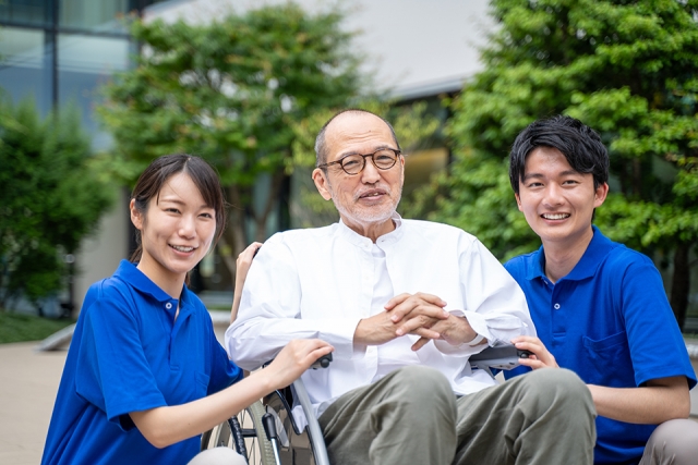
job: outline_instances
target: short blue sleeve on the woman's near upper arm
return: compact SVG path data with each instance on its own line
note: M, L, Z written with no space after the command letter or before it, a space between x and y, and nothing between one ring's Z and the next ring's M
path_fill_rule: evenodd
M133 426L121 416L167 405L157 387L139 336L139 321L125 297L99 287L87 311L77 342L77 394L106 412L124 429Z

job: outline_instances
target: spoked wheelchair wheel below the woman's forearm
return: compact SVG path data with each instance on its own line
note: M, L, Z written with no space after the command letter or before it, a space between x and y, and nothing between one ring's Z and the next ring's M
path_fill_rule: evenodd
M250 465L276 465L272 443L262 426L265 413L262 403L255 402L227 421L204 432L201 449L231 448L244 456Z

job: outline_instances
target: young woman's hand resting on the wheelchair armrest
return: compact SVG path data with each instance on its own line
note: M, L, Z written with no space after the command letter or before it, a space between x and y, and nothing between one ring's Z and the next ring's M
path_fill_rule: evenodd
M320 339L294 339L279 352L274 362L262 371L266 372L274 389L289 386L310 368L320 357L335 347Z

